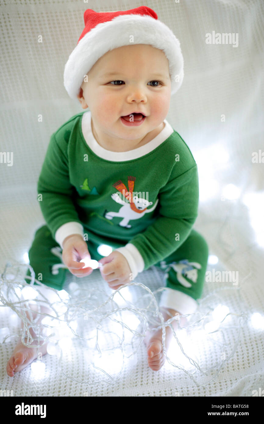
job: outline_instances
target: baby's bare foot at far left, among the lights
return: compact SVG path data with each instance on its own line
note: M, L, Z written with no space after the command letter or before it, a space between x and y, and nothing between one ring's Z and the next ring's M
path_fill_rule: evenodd
M35 311L35 312L32 312L32 317L33 319L35 319L37 315L36 307L34 308L33 305L31 305L31 309L32 311ZM47 307L41 306L41 312L49 314L51 311ZM28 312L26 313L27 313L27 317L29 318ZM44 318L44 315L40 315L37 321L37 324L40 324L43 318ZM21 323L21 326L23 327L23 323ZM32 327L30 328L30 333L32 337L36 337L36 333L33 331ZM27 340L28 338L26 337L25 341ZM41 343L43 343L42 340L40 342L37 342L34 340L31 343L31 346L38 345ZM36 359L37 353L39 352L41 352L42 355L47 353L47 343L45 343L39 348L36 348L36 347L27 347L23 345L21 340L19 340L6 365L6 372L8 376L14 377L14 373L21 371L23 368L29 365L34 359Z

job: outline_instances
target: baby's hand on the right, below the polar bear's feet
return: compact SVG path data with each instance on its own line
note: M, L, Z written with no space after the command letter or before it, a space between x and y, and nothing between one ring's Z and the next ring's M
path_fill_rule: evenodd
M122 253L113 251L110 255L100 259L98 262L103 264L99 268L100 273L111 289L117 290L124 284L131 283L129 279L131 269Z

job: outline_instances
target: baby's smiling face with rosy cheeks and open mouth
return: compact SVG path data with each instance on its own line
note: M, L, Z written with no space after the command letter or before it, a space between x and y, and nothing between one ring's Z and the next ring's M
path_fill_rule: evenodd
M166 118L171 81L162 50L145 44L118 47L98 59L87 75L81 105L89 107L93 122L108 136L139 139ZM141 125L122 123L121 116L137 111L146 116Z

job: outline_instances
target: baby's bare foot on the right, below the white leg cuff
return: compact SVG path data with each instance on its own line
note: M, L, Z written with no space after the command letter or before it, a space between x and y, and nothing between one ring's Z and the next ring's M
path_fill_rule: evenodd
M179 312L173 310L173 309L165 309L162 308L161 310L162 315L164 317L164 321L167 321L168 319L172 318L174 315L178 315ZM183 320L183 318L181 318ZM184 318L185 320L185 318ZM181 321L181 324L183 321ZM173 321L173 328L174 330L178 329L178 321ZM165 347L166 351L168 347L170 346L170 340L172 338L172 331L169 326L166 327L166 338L165 338ZM148 366L153 371L158 371L165 362L165 355L163 353L162 348L162 329L156 330L156 331L150 331L147 330L146 337L144 339L145 345L147 346L147 363Z

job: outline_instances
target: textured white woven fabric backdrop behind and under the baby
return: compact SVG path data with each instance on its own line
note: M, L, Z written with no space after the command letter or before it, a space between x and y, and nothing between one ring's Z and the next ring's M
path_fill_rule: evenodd
M252 152L264 151L264 3L260 0L1 1L0 151L14 155L13 166L0 163L1 272L8 259L23 262L34 232L44 223L36 201L36 182L50 135L82 111L64 89L63 71L83 31L83 12L86 8L115 11L142 5L153 8L181 42L185 77L171 98L167 120L189 145L198 164L201 197L194 228L206 237L210 254L220 259L214 268L239 271L239 286L244 282L243 301L227 291L224 303L236 313L263 314L264 250L256 239L261 232L264 239L263 223L253 228L250 211L242 201L247 193L262 193L262 203L255 209L264 210L264 163L251 160ZM207 45L206 33L213 31L238 33L238 47ZM228 152L227 162L222 161L220 148ZM211 188L213 180L219 184L216 190ZM226 184L241 190L239 198L223 198ZM163 284L161 277L161 272L151 268L140 274L137 282L155 290ZM101 282L98 274L94 273L93 279L94 284ZM220 286L206 282L203 295ZM217 305L216 299L212 302ZM14 332L8 324L8 311L2 308L0 328L5 326ZM235 336L229 332L226 342L232 345ZM30 367L11 378L6 375L6 361L14 346L15 340L0 344L0 388L13 389L14 396L83 396L85 391L88 396L175 396L175 391L179 396L252 396L253 390L264 389L263 329L253 329L250 321L242 329L234 357L204 388L197 388L177 368L152 371L143 345L137 361L125 368L115 385L73 382L60 373L58 361L50 355L43 357L48 370L43 380L32 381ZM204 356L207 367L217 360L217 352L210 349ZM78 349L73 363L64 364L64 372L89 382L99 379L89 371Z

